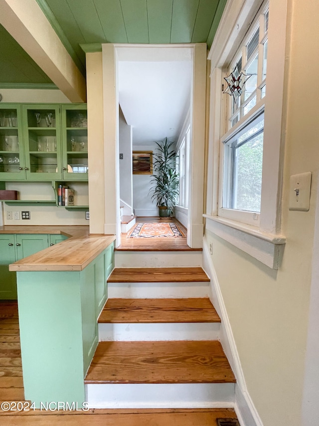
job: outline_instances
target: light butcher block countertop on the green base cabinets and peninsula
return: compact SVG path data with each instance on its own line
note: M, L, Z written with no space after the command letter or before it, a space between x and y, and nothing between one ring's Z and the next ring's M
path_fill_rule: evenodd
M10 271L82 271L114 240L115 235L89 234L88 226L0 227L0 234L62 234L69 237L9 265Z

